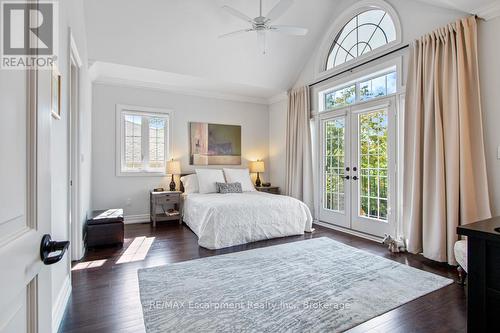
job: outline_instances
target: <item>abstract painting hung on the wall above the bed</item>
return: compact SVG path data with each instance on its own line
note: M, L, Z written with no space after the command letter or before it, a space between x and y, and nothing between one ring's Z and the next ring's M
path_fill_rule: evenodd
M189 164L241 164L241 126L190 123L189 130Z

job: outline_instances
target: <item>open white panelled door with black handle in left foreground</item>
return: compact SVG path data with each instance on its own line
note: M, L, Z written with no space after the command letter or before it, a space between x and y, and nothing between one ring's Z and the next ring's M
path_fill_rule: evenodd
M50 71L0 70L0 332L51 332Z

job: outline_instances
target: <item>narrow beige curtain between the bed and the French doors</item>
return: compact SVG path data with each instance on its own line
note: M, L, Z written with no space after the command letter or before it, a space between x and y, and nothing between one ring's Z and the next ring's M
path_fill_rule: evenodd
M314 211L309 114L309 89L302 87L290 91L286 126L285 193L302 200Z

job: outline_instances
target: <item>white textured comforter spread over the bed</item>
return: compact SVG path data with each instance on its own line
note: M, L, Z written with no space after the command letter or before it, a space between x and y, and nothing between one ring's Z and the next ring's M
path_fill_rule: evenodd
M262 192L187 194L183 218L207 249L300 235L312 227L303 202Z

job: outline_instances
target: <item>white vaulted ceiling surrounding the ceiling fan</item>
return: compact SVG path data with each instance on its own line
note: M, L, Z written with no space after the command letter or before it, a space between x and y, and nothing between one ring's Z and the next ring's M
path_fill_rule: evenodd
M472 11L490 0L423 0ZM278 0L264 0L267 13ZM276 23L309 29L305 37L268 33L268 53L254 34L219 39L248 25L221 9L228 4L258 16L258 0L86 0L90 61L147 68L189 78L234 84L269 98L295 82L325 29L350 0L295 0Z

